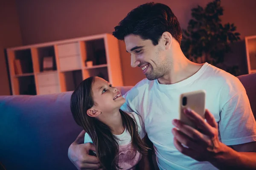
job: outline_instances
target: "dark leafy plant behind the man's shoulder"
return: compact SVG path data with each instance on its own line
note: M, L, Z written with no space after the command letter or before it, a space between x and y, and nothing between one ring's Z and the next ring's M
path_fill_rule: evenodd
M221 23L223 15L221 0L214 0L205 8L192 8L192 19L187 29L183 29L181 49L185 56L193 62L215 65L237 76L237 65L228 66L224 56L230 52L230 43L240 40L240 34L232 23Z

